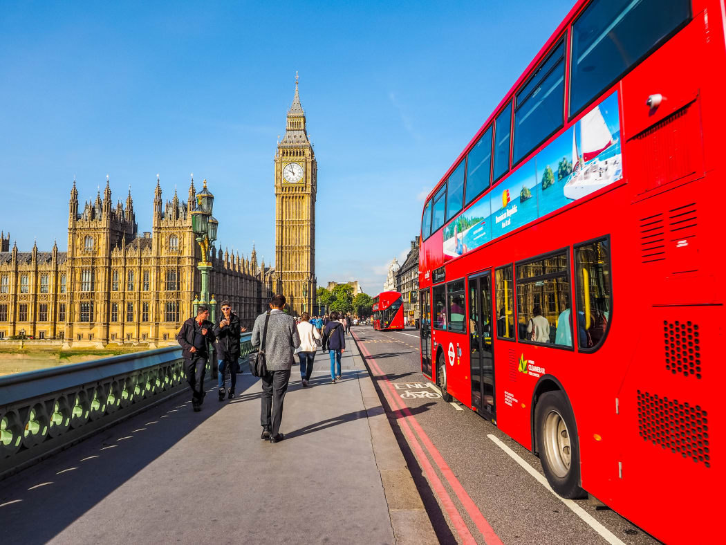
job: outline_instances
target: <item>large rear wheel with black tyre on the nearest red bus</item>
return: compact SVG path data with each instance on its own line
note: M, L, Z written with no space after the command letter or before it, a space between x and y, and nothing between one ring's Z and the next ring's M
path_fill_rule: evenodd
M534 425L539 460L552 490L563 498L587 497L580 487L580 446L575 415L564 392L544 392L539 397Z

